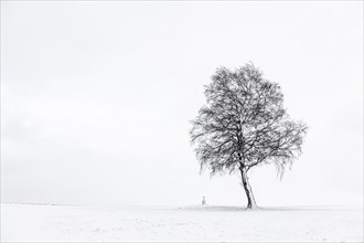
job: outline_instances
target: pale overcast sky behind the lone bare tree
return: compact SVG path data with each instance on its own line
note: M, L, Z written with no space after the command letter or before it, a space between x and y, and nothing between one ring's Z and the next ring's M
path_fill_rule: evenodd
M363 204L363 2L1 1L1 202L245 204L199 175L190 120L253 61L310 127L260 205Z

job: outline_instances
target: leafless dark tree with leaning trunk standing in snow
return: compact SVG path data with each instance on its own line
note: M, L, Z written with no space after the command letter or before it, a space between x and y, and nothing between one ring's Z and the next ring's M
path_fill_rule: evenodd
M282 176L301 152L307 126L290 119L280 86L265 80L253 64L217 68L205 96L207 104L190 131L201 171L239 172L247 209L256 208L247 172L274 163Z

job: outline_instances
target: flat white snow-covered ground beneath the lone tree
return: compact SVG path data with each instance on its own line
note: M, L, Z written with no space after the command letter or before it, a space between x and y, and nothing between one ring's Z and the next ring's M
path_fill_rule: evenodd
M363 209L1 204L11 241L363 242Z

